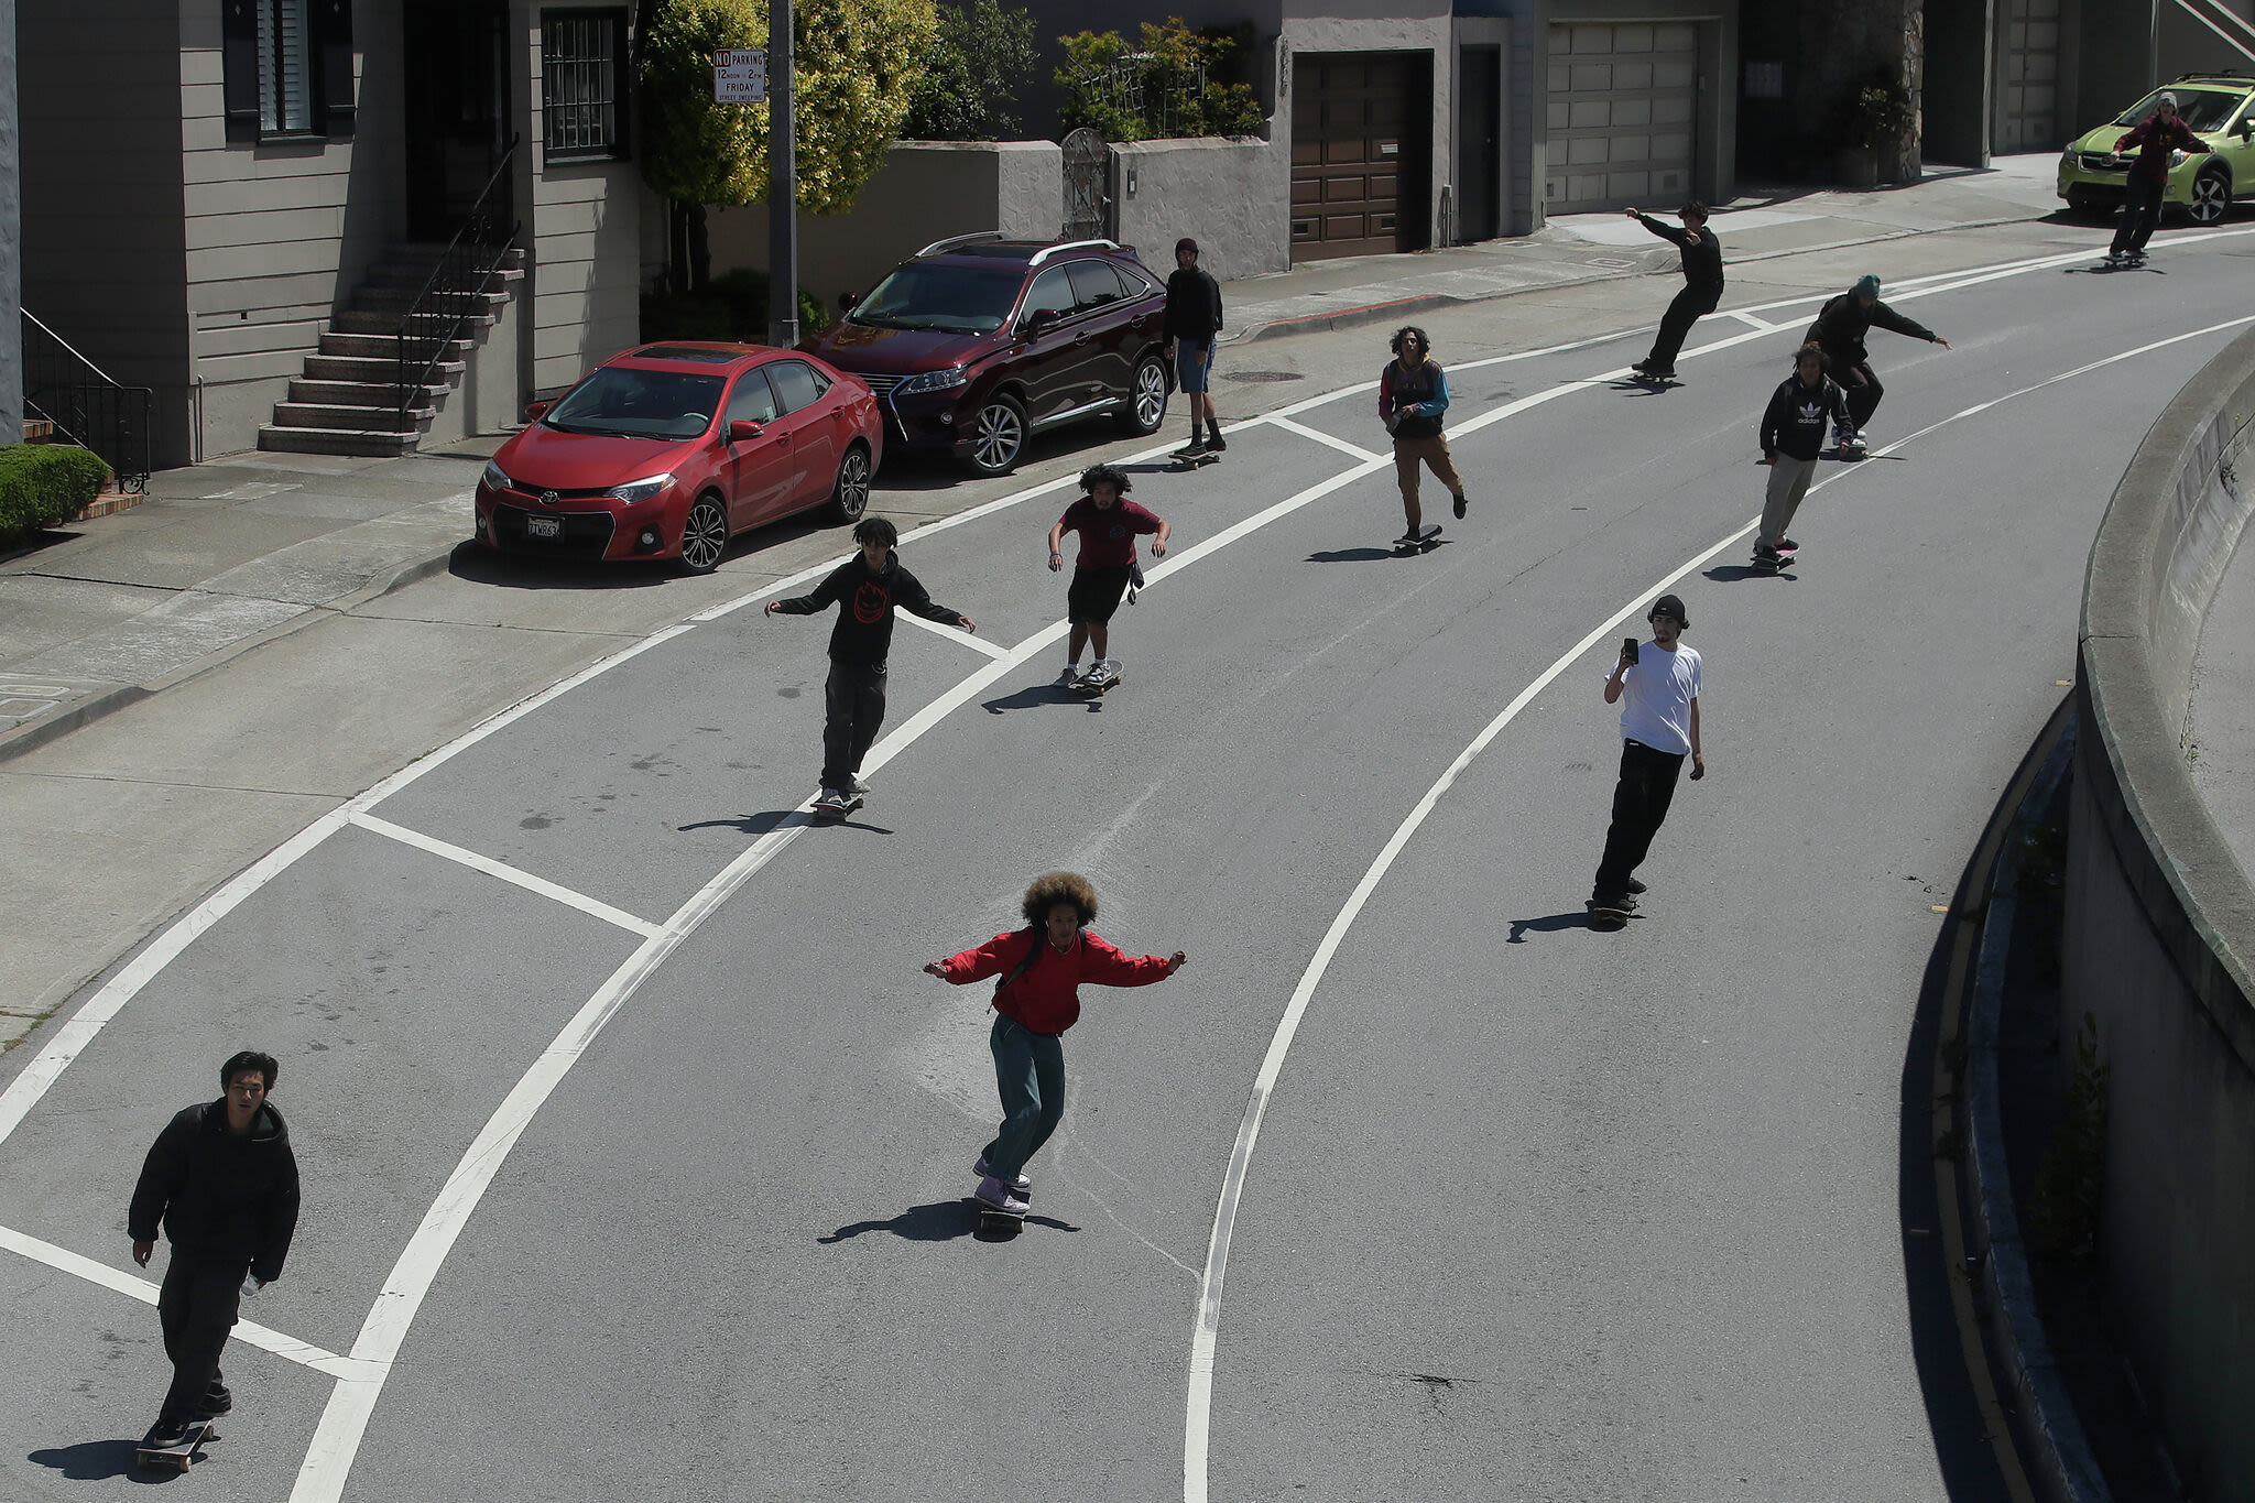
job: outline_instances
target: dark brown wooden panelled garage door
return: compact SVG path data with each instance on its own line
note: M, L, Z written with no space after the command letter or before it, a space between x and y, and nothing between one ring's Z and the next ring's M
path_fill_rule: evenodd
M1292 59L1294 261L1423 246L1430 79L1430 52Z

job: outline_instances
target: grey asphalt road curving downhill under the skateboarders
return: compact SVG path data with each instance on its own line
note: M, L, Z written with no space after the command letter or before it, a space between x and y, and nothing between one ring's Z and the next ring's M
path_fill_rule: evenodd
M241 1496L2000 1496L1899 1140L1933 904L2250 248L1899 297L1955 352L1872 336L1881 455L1824 466L1786 577L1736 534L1815 295L1703 322L1657 394L1606 379L1648 327L1529 304L1574 347L1436 329L1473 514L1427 482L1427 557L1362 388L1143 462L1177 548L1096 705L1046 687L1064 491L911 536L979 642L895 631L843 827L803 818L828 624L749 602L379 784L0 1095L0 1492L129 1483L165 1370L124 1201L255 1041L307 1215L228 1357ZM1709 777L1592 933L1612 622L1671 579ZM918 967L1055 865L1191 964L1089 989L988 1244L988 987Z

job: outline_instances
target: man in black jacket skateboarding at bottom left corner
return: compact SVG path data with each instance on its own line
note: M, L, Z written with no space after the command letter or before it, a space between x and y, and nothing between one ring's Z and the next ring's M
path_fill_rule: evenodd
M219 1068L219 1100L174 1115L133 1185L133 1262L149 1266L158 1226L171 1242L156 1296L171 1388L142 1440L147 1449L174 1449L192 1424L235 1408L219 1357L241 1296L282 1278L298 1230L298 1156L282 1113L266 1100L280 1073L273 1055L230 1055Z

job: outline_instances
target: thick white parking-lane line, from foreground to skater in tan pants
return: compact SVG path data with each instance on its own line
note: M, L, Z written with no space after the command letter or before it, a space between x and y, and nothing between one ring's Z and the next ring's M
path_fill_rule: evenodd
M1385 464L1387 460L1369 460L1339 471L1337 475L1288 496L1256 516L1224 527L1204 543L1182 550L1179 554L1150 568L1146 577L1150 584L1159 584L1168 575L1188 568L1191 563L1283 516L1290 516L1292 512L1299 512L1306 505L1312 505L1315 500L1321 500L1324 496L1330 496L1353 480L1376 473ZM886 766L893 757L922 739L925 732L970 703L974 694L981 694L1012 669L1031 662L1035 653L1058 642L1064 633L1067 622L1051 622L1017 647L1008 649L1001 658L994 658L974 672L970 678L963 678L947 690L947 694L934 699L929 705L911 714L900 728L877 741L864 766L870 771ZM611 973L602 989L598 989L595 996L591 996L577 1014L573 1014L571 1023L564 1025L564 1032L550 1041L550 1046L487 1120L485 1129L462 1154L460 1163L456 1163L453 1174L446 1176L446 1185L437 1192L431 1210L415 1228L415 1235L408 1237L406 1248L401 1248L399 1260L383 1280L383 1291L377 1296L374 1307L368 1311L368 1320L361 1325L359 1339L352 1343L352 1361L361 1366L354 1377L338 1381L338 1386L329 1393L329 1402L320 1413L320 1424L313 1431L313 1444L307 1449L304 1465L298 1469L291 1503L334 1503L334 1498L343 1496L345 1478L350 1476L352 1462L361 1449L361 1438L368 1433L368 1420L374 1415L377 1399L383 1393L383 1381L390 1377L399 1348L406 1343L408 1327L415 1323L415 1314L431 1293L431 1284L437 1280L437 1271L446 1262L446 1253L462 1235L471 1212L478 1210L478 1201L494 1183L494 1176L501 1174L503 1163L510 1158L510 1149L516 1147L516 1138L532 1122L532 1115L564 1082L564 1075L571 1073L602 1028L634 998L640 985L649 980L649 976L656 973L656 969L665 964L665 960L737 892L737 888L751 881L760 868L805 834L807 809L810 804L798 804L794 811L798 818L778 825L753 841L742 856L731 861L688 904L665 919L656 935L636 946L634 955L629 955L625 964Z

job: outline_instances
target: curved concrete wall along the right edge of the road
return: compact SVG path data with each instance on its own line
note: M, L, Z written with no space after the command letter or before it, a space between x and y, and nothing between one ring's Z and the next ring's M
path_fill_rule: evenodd
M2255 1503L2255 886L2183 748L2250 439L2255 333L2160 415L2090 548L2061 1037L2093 1014L2111 1075L2111 1323L2192 1496Z

